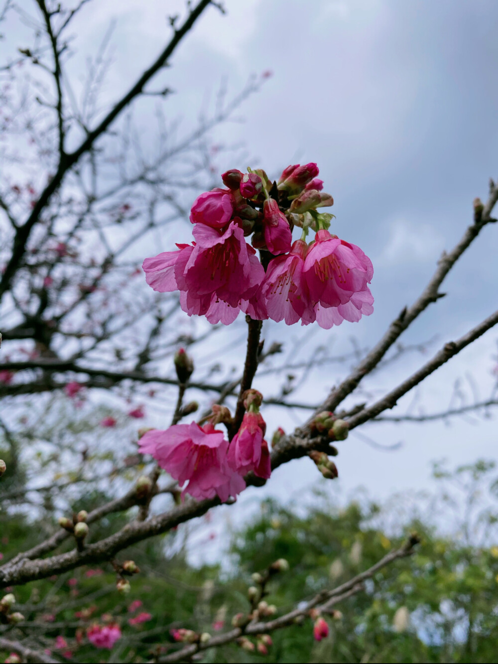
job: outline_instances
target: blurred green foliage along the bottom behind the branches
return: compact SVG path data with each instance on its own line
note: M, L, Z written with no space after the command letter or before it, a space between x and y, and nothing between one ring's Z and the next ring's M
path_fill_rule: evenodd
M478 461L450 472L439 464L434 475L434 492L393 496L384 505L361 491L345 500L340 485L339 491L331 491L334 485L320 481L295 505L261 503L258 513L231 529L230 550L223 556L220 552L220 564L189 562L193 547L203 542L191 540L195 528L185 525L127 550L125 556L136 560L141 572L131 578L125 596L116 590L116 575L108 564L15 588L16 608L29 621L25 629L31 635L39 625L39 645L56 656L69 657L69 650L78 661L150 661L157 653L154 643L162 644L162 653L179 647L171 629L211 634L230 629L232 616L249 609L251 574L277 558L286 558L290 570L274 577L266 600L282 615L322 588L369 568L416 531L422 542L415 554L380 570L365 592L335 607L342 615L327 618L330 631L323 641L314 641L313 622L307 619L272 633L266 656L231 644L203 653L201 661L497 661L495 465ZM102 496L88 495L84 502L91 508L102 503ZM100 528L114 531L124 523L125 516L110 515ZM97 527L92 528L98 537ZM29 515L1 513L3 559L35 544L38 531ZM135 600L142 604L130 612ZM151 614L150 620L129 625L140 612ZM84 637L95 620L116 620L122 627L123 637L110 654L96 650ZM5 635L8 629L0 627ZM55 647L60 635L68 644L65 655Z

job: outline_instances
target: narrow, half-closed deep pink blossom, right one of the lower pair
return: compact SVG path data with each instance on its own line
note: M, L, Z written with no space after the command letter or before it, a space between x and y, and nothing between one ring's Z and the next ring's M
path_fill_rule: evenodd
M230 468L240 475L254 470L259 477L270 477L268 461L260 466L265 431L266 424L259 413L249 411L244 414L242 424L228 448L227 459ZM268 445L266 451L268 452ZM260 475L258 471L264 474Z

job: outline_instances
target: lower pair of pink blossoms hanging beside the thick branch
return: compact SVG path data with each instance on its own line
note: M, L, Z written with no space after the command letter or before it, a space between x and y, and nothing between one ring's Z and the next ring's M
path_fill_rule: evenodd
M199 424L173 424L165 431L145 432L139 440L140 452L151 454L182 487L188 482L183 493L197 500L218 495L225 502L244 491L244 475L249 471L264 479L272 472L261 402L260 392L246 392L246 413L230 443L216 428L231 421L230 412L215 404L212 415Z

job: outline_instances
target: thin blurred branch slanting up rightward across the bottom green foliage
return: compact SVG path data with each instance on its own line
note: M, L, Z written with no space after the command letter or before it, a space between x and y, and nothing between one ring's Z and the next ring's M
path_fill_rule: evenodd
M289 625L295 624L297 620L302 620L302 618L307 617L309 610L316 607L319 607L321 611L326 613L327 611L331 610L335 604L339 604L339 602L342 602L343 600L357 594L358 592L365 590L363 582L372 578L374 574L378 572L378 570L394 562L394 560L411 556L414 546L416 546L419 541L420 539L418 536L413 535L402 546L400 546L400 548L390 551L384 556L384 558L381 558L381 560L376 562L376 564L374 564L371 568L365 570L365 572L361 572L361 574L358 574L341 586L333 588L333 590L321 590L321 592L317 593L312 600L305 602L304 606L301 606L301 608L295 609L288 614L285 614L284 616L280 616L280 618L275 618L274 620L269 620L268 622L258 622L258 620L255 619L244 628L236 627L235 629L232 629L224 634L213 636L204 643L192 643L185 645L185 647L177 650L175 653L161 657L159 662L169 663L188 660L197 652L214 648L219 645L225 645L226 643L231 643L232 641L236 641L236 639L242 635L250 636L257 634L268 634L272 631L276 631L277 629L288 627Z

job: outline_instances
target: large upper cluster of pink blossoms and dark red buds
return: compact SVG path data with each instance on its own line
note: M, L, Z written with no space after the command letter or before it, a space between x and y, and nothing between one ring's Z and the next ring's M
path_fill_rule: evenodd
M226 189L201 194L191 208L194 241L145 259L147 284L180 291L183 311L210 323L228 325L243 311L329 329L370 315L371 260L330 234L333 215L319 208L333 198L323 193L318 172L315 163L296 164L272 183L262 169L226 171ZM294 227L302 229L295 242ZM315 237L308 244L310 231Z

